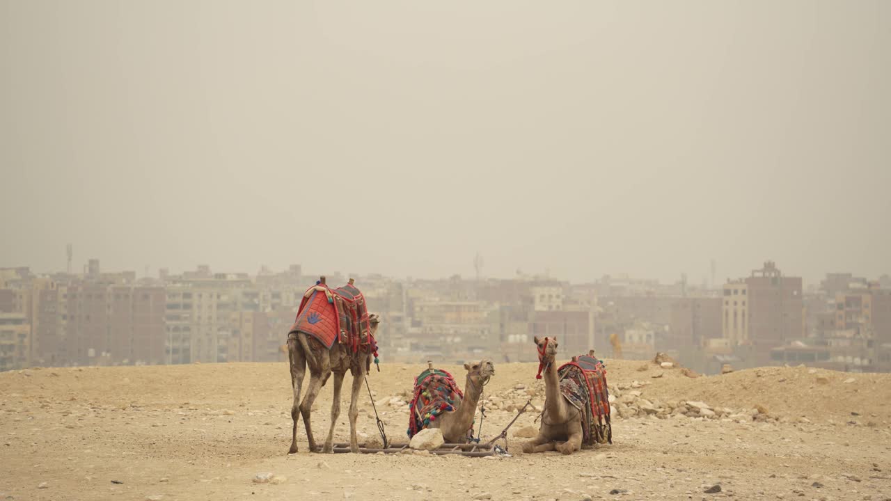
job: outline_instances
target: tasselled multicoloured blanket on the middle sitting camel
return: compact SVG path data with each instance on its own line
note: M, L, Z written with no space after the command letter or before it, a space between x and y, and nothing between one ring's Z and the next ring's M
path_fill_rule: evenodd
M427 369L414 378L412 403L409 404L408 437L436 422L437 416L453 411L464 398L452 374Z

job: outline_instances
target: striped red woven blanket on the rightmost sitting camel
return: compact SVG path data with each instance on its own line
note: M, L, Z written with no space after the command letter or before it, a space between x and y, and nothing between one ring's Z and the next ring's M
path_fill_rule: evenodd
M557 374L560 377L560 393L582 413L584 443L611 444L609 390L603 363L589 355L573 357L571 362L557 369Z

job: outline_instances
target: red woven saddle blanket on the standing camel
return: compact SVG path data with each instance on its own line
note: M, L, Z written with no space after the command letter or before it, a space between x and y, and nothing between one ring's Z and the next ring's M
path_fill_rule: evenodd
M288 333L307 333L327 349L337 341L353 351L377 351L365 298L352 284L330 289L316 283L307 289Z

